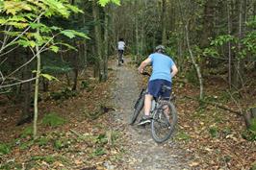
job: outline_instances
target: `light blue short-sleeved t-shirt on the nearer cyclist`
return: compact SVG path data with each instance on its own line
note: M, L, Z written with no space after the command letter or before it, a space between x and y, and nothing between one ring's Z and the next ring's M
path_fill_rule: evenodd
M174 62L166 55L153 53L148 57L152 61L153 72L149 81L164 79L171 82L170 70Z

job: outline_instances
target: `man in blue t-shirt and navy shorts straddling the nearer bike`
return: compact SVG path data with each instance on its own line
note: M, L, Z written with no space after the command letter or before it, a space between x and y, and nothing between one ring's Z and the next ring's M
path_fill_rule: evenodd
M153 97L170 97L170 91L162 92L162 85L167 85L171 87L171 79L177 74L178 69L176 64L172 59L164 54L165 47L159 45L155 49L155 53L149 55L149 57L141 62L138 70L140 73L143 72L143 69L152 64L153 71L148 82L148 93L145 95L144 99L144 115L141 118L140 124L149 123L151 120L150 109L151 101Z

